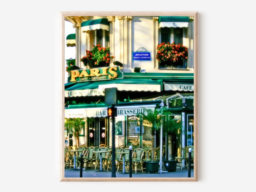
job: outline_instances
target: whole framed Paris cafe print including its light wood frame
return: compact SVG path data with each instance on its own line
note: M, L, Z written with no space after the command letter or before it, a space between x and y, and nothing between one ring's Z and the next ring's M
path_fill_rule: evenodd
M60 181L198 181L198 13L61 24Z

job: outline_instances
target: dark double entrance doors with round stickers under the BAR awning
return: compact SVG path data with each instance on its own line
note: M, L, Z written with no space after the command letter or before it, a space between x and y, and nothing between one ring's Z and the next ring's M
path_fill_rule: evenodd
M108 145L107 125L107 118L96 117L88 119L88 146Z

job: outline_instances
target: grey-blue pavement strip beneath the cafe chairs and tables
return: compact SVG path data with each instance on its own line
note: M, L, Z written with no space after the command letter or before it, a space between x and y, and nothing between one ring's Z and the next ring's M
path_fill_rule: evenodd
M130 174L125 173L123 174L122 171L118 171L116 174L116 178L129 178ZM194 169L191 168L191 178L194 177ZM65 168L65 178L79 178L80 177L80 170L74 170ZM83 178L111 178L112 177L112 171L111 169L108 171L97 171L93 169L86 169L83 170ZM137 171L137 174L132 173L133 178L188 178L188 169L183 167L182 170L180 167L177 167L175 172L167 172L162 171L162 173L146 173L145 170L143 170L143 173L141 171Z

